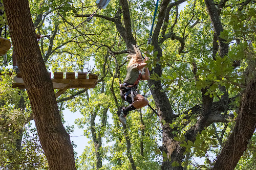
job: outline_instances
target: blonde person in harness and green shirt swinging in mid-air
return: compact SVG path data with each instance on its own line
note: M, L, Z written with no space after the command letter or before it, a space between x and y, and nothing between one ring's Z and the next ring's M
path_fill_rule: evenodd
M143 62L142 54L139 50L138 45L133 45L135 54L129 54L127 58L130 59L127 65L126 78L123 84L120 84L120 95L123 100L130 103L127 107L120 107L117 111L119 121L126 125L126 115L129 111L136 110L148 105L148 101L143 95L136 92L137 85L140 80L150 79L150 71L148 68L144 68L147 63ZM145 60L148 60L145 57ZM145 61L144 60L144 61Z

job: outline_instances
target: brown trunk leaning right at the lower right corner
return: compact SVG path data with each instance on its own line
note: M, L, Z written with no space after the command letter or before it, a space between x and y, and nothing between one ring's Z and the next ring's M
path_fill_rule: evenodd
M256 82L249 83L241 100L237 123L217 157L214 170L234 169L256 128Z

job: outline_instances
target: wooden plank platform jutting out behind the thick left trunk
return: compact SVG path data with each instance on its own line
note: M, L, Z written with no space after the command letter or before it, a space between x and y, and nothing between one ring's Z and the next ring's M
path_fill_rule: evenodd
M15 83L12 87L18 87L19 89L26 88L21 76L21 74L17 74L17 76L14 78ZM49 72L49 76L51 77L51 72ZM63 78L63 72L54 72L54 78L51 80L53 83L53 88L59 89L59 91L55 94L57 98L69 88L94 88L98 81L98 75L89 73L87 78L86 72L78 72L76 77L75 72L66 72L65 79Z

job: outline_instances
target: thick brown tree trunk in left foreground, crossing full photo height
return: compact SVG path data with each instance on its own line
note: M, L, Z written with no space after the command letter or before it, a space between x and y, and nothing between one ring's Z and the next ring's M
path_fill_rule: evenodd
M50 169L76 169L70 136L61 123L53 85L36 41L27 0L5 0L19 69Z

